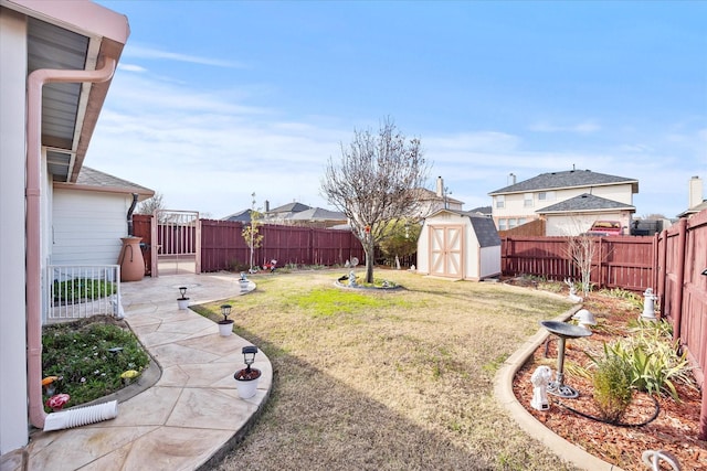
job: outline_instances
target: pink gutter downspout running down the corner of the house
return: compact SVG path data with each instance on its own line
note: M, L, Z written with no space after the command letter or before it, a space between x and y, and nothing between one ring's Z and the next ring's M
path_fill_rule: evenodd
M30 422L44 428L42 404L42 264L41 264L41 174L42 174L42 87L49 83L101 83L113 77L117 60L104 57L95 71L40 68L28 77L27 113L27 343Z

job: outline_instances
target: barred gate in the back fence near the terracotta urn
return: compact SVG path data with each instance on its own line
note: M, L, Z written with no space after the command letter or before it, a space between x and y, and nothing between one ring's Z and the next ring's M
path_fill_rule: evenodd
M157 210L151 233L152 277L201 272L199 212Z

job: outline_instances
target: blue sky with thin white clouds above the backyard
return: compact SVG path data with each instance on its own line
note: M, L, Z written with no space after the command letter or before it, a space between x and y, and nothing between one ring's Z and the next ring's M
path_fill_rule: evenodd
M577 168L673 217L707 180L704 1L98 3L131 33L85 164L170 208L330 207L327 159L386 117L466 210Z

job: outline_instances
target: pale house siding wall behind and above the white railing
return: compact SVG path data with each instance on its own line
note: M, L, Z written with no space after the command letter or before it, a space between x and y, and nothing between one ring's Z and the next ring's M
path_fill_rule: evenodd
M116 264L131 201L125 194L56 189L52 264Z

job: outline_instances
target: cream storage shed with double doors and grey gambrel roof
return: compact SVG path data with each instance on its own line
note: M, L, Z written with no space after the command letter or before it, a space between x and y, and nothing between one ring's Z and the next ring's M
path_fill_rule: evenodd
M500 275L500 237L489 217L440 210L424 220L418 272L465 280Z

